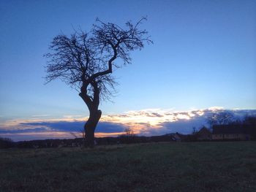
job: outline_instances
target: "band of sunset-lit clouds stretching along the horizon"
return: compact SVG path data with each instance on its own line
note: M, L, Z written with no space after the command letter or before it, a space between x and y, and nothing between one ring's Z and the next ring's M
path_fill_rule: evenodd
M222 111L233 112L236 118L242 118L244 115L256 115L256 110L224 110L223 107L185 112L160 109L129 111L123 114L102 115L95 135L97 137L115 137L123 134L125 128L132 128L135 134L145 136L173 132L189 134L193 127L207 126L209 115ZM48 120L6 120L0 124L0 137L10 137L15 140L73 138L70 132L80 134L86 120L87 118L80 118L80 115L66 115L61 119Z

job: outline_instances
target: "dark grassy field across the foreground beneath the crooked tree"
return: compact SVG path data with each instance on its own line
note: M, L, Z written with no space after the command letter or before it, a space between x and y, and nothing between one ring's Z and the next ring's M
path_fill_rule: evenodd
M256 191L256 142L0 150L0 191Z

